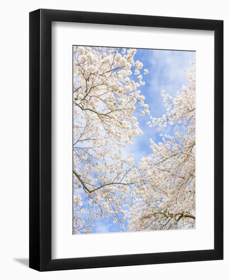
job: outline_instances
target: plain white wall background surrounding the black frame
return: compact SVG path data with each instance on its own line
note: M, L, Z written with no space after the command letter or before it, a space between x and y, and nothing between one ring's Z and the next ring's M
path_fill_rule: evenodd
M3 279L198 279L228 277L229 18L227 2L87 0L8 1L1 6L0 276ZM224 20L224 260L37 272L28 266L28 12L38 8ZM226 276L227 275L227 276Z

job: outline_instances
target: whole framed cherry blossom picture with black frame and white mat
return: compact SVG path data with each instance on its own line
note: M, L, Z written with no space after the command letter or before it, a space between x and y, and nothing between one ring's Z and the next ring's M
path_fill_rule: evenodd
M30 267L223 259L223 21L30 13Z

